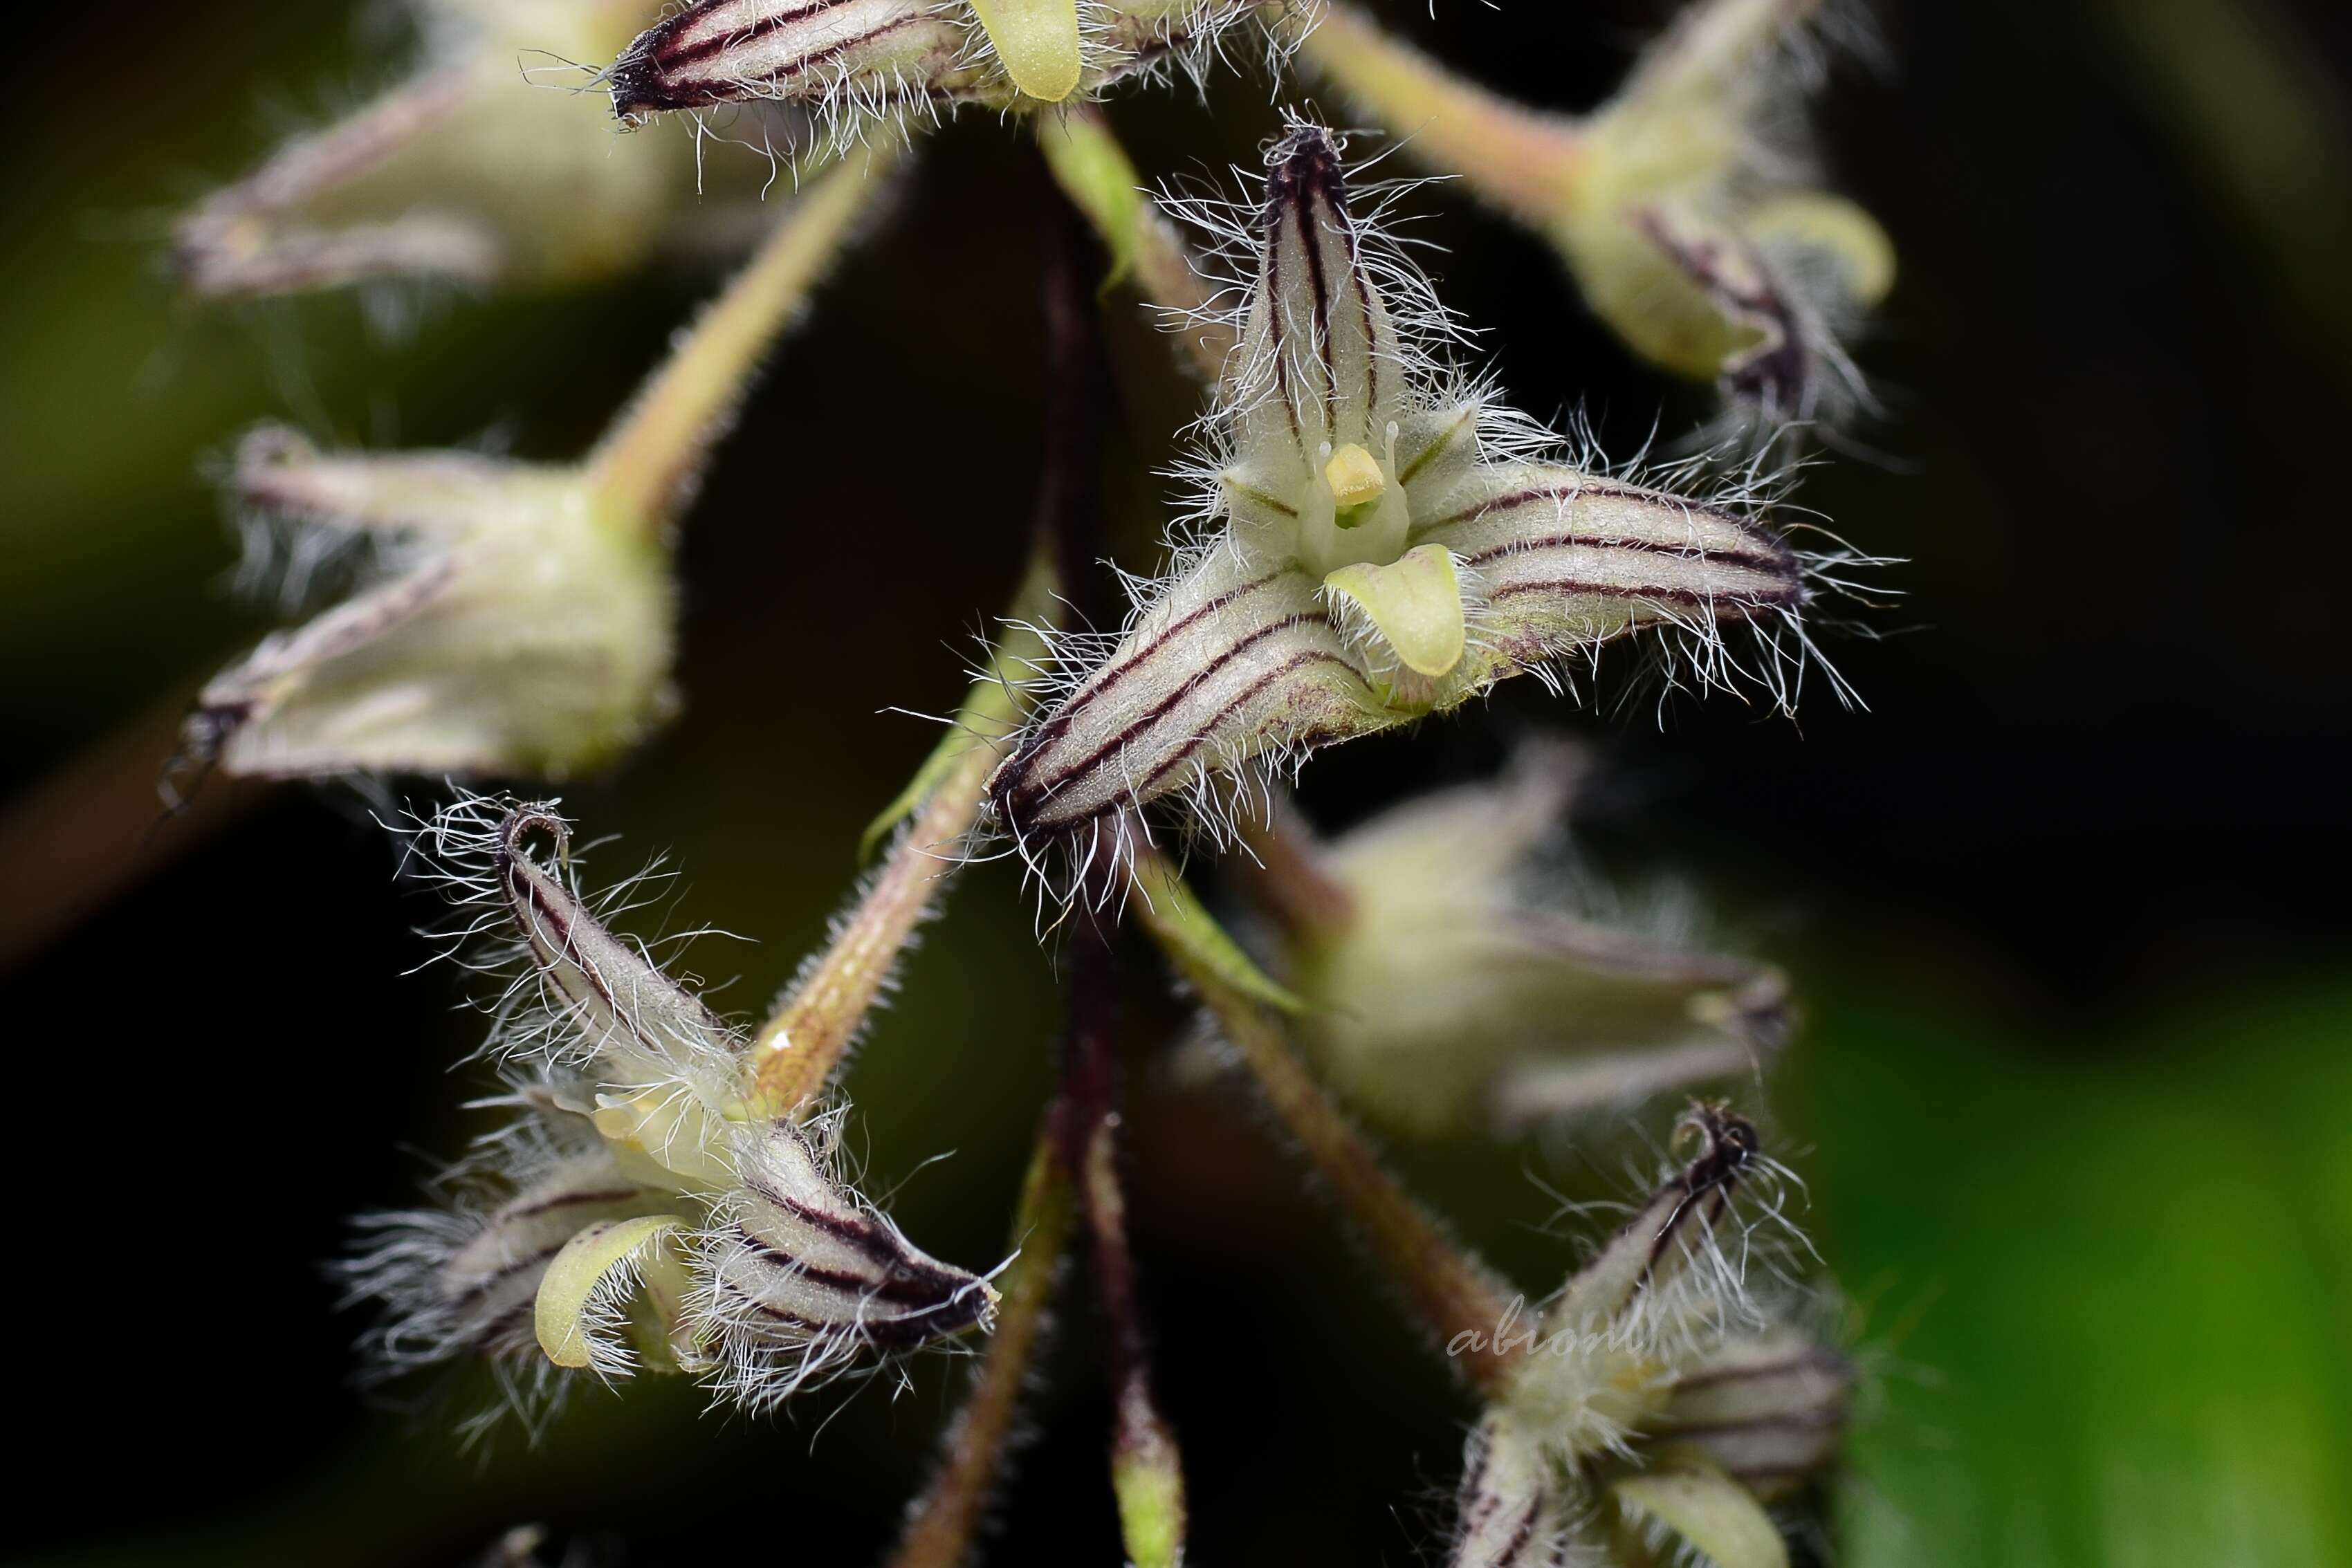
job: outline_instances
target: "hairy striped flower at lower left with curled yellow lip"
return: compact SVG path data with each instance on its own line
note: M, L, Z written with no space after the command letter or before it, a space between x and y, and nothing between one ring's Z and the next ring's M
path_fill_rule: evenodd
M346 1272L386 1307L386 1371L489 1356L529 1389L644 1366L760 1408L985 1328L995 1291L847 1185L840 1112L767 1110L748 1037L597 919L553 806L466 799L419 837L468 936L506 936L487 966L510 973L494 1048L520 1119L449 1211L362 1222Z

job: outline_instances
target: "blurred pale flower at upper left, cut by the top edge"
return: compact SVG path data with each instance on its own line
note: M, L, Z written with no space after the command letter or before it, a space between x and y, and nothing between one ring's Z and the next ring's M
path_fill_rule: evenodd
M172 261L195 294L581 284L722 242L757 212L764 160L706 160L687 136L616 146L600 99L562 80L612 59L656 0L414 9L423 63L409 80L176 223Z

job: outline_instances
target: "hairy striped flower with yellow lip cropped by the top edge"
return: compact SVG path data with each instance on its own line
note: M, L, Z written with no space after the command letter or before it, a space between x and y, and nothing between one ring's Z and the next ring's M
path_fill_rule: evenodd
M811 108L840 141L863 122L964 103L1037 108L1136 75L1200 78L1235 24L1308 0L691 0L612 68L626 122L720 103Z

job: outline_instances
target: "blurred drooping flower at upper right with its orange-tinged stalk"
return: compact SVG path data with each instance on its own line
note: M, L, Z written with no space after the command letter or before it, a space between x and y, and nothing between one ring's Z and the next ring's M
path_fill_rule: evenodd
M1581 118L1503 101L1338 0L1301 59L1399 139L1559 247L1651 362L1764 421L1860 397L1839 348L1893 284L1867 212L1818 188L1795 134L1825 0L1698 0Z

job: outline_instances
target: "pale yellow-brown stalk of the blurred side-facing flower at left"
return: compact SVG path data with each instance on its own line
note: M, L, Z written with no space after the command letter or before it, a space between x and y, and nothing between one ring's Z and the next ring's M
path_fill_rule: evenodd
M616 520L659 534L677 517L710 449L734 425L760 360L840 256L894 158L873 150L809 181L604 433L588 456L588 482Z

